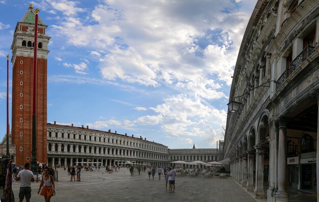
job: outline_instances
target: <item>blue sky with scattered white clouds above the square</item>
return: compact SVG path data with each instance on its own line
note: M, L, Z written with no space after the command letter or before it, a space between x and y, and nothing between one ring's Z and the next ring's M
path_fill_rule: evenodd
M51 37L48 123L142 135L171 149L216 148L224 139L231 76L256 0L0 0L0 138L6 54L29 4ZM9 71L11 111L12 64Z

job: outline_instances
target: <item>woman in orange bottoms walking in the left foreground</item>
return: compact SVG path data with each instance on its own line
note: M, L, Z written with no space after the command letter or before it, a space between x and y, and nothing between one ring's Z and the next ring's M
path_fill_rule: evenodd
M43 187L41 193L40 190ZM41 183L38 194L44 196L45 202L50 202L50 198L56 192L55 182L51 175L49 175L49 168L45 167L41 177Z

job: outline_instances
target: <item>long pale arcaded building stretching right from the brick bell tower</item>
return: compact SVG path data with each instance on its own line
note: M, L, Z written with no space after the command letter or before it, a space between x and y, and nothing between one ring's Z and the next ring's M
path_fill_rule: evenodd
M168 147L146 138L75 127L48 124L49 165L127 165L128 163L168 166Z

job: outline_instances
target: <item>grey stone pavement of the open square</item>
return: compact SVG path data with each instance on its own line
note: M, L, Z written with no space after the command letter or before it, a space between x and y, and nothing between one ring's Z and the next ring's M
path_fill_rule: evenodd
M70 182L67 172L58 168L57 195L51 201L256 201L231 178L176 177L175 193L165 191L164 178L149 180L146 172L130 176L127 168L105 174L83 171L81 182ZM31 201L44 201L37 194L40 182L32 183ZM13 183L15 201L18 201L20 182ZM25 201L25 200L24 200Z

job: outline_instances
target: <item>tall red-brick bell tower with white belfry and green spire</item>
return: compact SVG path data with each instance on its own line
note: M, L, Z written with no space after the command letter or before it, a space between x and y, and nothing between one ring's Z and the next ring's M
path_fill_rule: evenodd
M15 27L12 49L12 143L16 163L31 163L33 114L33 61L37 46L37 161L47 162L47 49L50 37L38 18L38 44L34 44L35 12L28 11Z

